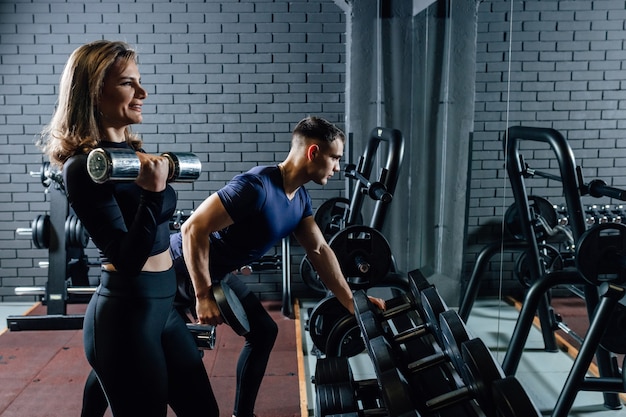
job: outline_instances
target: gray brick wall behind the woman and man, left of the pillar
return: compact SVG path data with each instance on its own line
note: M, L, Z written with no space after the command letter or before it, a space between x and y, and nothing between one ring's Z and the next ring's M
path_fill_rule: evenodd
M135 130L150 152L191 151L203 163L199 181L175 186L178 208L188 212L234 174L282 160L301 118L320 115L343 127L345 31L332 0L2 2L0 301L16 300L16 286L47 281L38 267L47 251L15 230L51 210L29 175L43 161L34 141L78 45L126 40L139 51L149 97ZM344 181L309 189L319 204L340 195ZM249 277L262 297L280 298L279 273L264 284L258 278ZM303 287L295 283L294 292Z

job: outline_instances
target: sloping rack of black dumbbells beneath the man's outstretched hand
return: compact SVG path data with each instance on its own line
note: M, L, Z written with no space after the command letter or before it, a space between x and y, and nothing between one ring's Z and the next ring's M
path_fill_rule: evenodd
M355 293L355 317L375 378L355 380L347 357L319 358L315 417L541 415L419 270L409 273L409 286L388 299L384 311L364 291Z

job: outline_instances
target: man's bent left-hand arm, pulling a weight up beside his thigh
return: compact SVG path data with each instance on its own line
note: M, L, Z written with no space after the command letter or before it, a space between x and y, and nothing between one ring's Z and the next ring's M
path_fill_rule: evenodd
M211 292L209 274L209 235L233 224L217 193L211 194L182 224L183 257L196 293L200 323L223 322Z

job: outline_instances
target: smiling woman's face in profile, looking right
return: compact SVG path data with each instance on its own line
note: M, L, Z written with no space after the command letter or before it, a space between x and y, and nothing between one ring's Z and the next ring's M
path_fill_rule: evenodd
M108 70L102 85L99 111L105 130L124 129L141 123L141 106L148 96L141 86L137 64L118 59Z

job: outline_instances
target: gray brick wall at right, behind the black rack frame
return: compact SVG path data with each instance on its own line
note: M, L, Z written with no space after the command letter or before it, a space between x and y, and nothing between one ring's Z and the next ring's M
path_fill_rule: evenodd
M560 131L586 182L601 178L626 186L626 2L512 4L512 13L507 1L483 1L479 7L466 276L475 253L502 237L502 215L513 202L502 152L507 126ZM531 167L558 174L554 154L546 147L527 144L524 149ZM531 194L564 203L557 181L527 184ZM583 198L584 206L609 202ZM515 257L502 257L505 294L520 289L510 274ZM496 256L483 279L485 293L498 291L499 262Z

